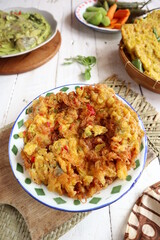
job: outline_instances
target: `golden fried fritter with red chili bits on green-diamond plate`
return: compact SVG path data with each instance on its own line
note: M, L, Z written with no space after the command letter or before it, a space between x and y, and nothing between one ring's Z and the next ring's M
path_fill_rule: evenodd
M27 113L21 156L50 191L86 199L135 167L144 132L105 84L40 96Z

